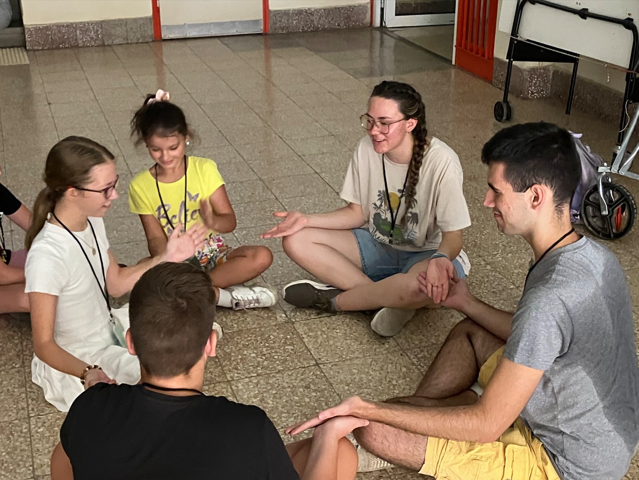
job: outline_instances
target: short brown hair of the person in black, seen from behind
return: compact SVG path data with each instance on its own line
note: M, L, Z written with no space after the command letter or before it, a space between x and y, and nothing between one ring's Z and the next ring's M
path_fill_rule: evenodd
M128 307L144 371L163 378L189 372L211 335L215 304L210 275L190 263L160 263L145 272Z

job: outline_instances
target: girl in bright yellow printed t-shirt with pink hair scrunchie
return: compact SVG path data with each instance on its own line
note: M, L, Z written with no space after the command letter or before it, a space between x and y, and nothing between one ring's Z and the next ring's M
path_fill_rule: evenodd
M168 102L169 93L148 95L131 121L131 135L146 144L155 164L137 174L129 186L129 209L140 215L151 256L166 249L171 232L204 222L208 235L192 262L210 272L218 305L233 309L270 307L274 291L247 287L270 267L267 247L243 245L229 248L220 234L237 224L224 180L213 160L189 157L185 149L192 136L184 112Z

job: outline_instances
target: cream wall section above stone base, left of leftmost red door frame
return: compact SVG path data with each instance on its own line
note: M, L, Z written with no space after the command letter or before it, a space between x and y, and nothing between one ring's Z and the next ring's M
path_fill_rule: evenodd
M25 25L151 16L151 0L22 0Z

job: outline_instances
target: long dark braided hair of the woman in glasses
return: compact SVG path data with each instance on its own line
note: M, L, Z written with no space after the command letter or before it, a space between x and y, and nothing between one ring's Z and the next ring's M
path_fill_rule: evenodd
M371 97L394 100L405 118L417 120L417 125L411 132L413 134L413 155L408 164L408 179L406 180L406 190L404 190L406 211L400 222L402 226L406 226L406 215L408 215L408 211L413 208L415 203L419 171L422 168L424 153L429 145L428 132L426 130L426 107L424 102L422 102L422 96L407 83L383 81L373 88Z

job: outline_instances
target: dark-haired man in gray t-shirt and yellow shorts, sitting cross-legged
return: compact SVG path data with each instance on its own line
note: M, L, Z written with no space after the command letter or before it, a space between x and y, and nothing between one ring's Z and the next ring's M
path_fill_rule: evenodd
M534 252L515 313L453 279L442 304L467 318L413 396L351 397L291 433L354 415L371 421L355 432L367 451L436 478L619 480L639 443L631 297L615 255L571 227L573 139L550 123L514 125L482 161L484 205Z

